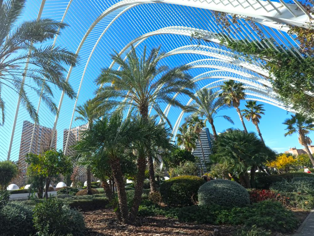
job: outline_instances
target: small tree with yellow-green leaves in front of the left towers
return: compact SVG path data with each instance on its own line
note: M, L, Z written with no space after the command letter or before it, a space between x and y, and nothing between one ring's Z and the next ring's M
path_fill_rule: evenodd
M63 155L62 150L49 150L39 155L31 155L26 158L26 162L30 164L30 168L34 173L45 178L46 199L48 199L51 178L58 174L66 175L72 171L72 162L67 156Z

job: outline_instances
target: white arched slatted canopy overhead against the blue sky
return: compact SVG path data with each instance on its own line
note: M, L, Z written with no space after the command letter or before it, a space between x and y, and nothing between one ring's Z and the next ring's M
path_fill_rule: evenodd
M230 30L225 29L217 14L226 17ZM224 81L232 79L245 84L247 99L290 110L273 92L269 71L264 68L262 61L248 60L220 42L243 39L255 42L261 40L260 34L263 34L267 40L258 47L273 47L283 52L288 49L296 58L302 59L296 36L288 32L289 25L310 27L313 16L297 0L292 3L288 3L288 0L27 1L25 19L40 17L53 18L70 25L60 36L45 45L66 46L81 59L77 67L68 68L67 74L67 80L77 92L77 99L70 100L57 88L54 90L58 115L52 115L36 94L31 95L31 101L39 113L38 125L49 127L52 137L56 137L56 140L50 139L50 146L56 145L57 149L62 149L64 145L66 148L69 145L69 134L68 139L64 139L64 130L82 125L74 121L75 108L93 97L97 88L94 79L100 69L118 69L110 59L110 53L115 49L125 56L131 45L137 50L143 50L144 45L149 49L161 45L161 49L166 52L161 63L171 66L192 65L190 73L199 88L219 91ZM191 35L198 35L201 43ZM31 142L34 142L35 126L28 132L22 132L23 122L31 121L30 117L20 105L18 97L12 97L10 91L4 93L3 97L10 109L5 125L0 128L0 159L17 160L21 138L31 137ZM193 102L181 94L173 96L183 104ZM161 106L173 120L175 136L185 114L168 104Z

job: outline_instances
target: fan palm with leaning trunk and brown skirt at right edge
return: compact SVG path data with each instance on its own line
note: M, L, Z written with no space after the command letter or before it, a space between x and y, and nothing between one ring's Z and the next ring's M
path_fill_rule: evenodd
M286 132L284 136L291 135L296 132L299 134L299 143L305 147L305 151L307 155L309 155L311 162L314 166L313 155L311 154L308 147L308 145L310 145L312 141L310 137L307 136L310 131L314 130L313 122L314 119L306 119L304 115L296 113L295 115L291 115L290 119L286 119L283 124L287 125L286 130L288 130L288 132Z

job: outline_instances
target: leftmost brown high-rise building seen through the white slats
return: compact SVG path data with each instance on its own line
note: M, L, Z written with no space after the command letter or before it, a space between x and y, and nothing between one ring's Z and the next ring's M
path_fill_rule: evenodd
M51 136L52 128L35 125L30 121L23 122L21 144L19 150L19 163L22 171L25 171L26 166L24 162L25 155L28 153L40 154L41 152L48 150L50 148ZM55 132L52 148L57 148L57 131Z

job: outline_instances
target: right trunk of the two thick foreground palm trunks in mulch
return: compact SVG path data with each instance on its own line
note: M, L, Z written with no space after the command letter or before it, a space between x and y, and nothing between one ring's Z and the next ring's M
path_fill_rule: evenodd
M146 169L146 157L138 158L137 166L138 166L138 172L135 177L136 185L135 185L135 190L134 190L134 201L133 201L133 206L132 206L130 217L129 217L131 222L134 221L138 213L138 207L141 204L141 200L142 200L143 184L144 184L145 169Z

